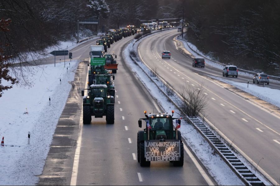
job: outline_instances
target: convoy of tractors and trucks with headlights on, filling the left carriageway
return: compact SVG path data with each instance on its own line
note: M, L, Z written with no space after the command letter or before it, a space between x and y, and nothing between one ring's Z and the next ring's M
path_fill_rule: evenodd
M117 73L117 55L105 54L111 44L123 37L137 33L134 25L126 29L109 30L106 35L90 47L88 66L88 88L82 90L83 123L91 124L92 116L106 117L107 124L114 124L115 86L112 80ZM111 70L111 72L110 72ZM85 95L85 91L87 94ZM137 133L137 159L140 166L150 166L151 161L170 161L174 166L184 165L184 145L181 139L180 119L168 113L149 113L145 111L145 118L140 118L138 126L145 129ZM175 120L176 127L173 127Z

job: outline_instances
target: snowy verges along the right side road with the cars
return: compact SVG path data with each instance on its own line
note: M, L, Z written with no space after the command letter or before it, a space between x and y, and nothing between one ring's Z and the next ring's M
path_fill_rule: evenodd
M191 46L191 48L193 50L196 50L200 55L204 56L203 53L199 50L197 50L197 48L192 45L191 43L188 42L185 42L183 40L180 40L181 42L184 43L184 47L187 51L189 51L193 56L196 56L196 53L193 52L189 46ZM209 56L206 56L207 58L209 58ZM210 58L209 58L210 59ZM222 74L222 66L219 65L219 64L215 64L215 63L208 63L207 60L205 61L205 63L207 63L208 65L210 66L213 66L217 69L221 69L221 74ZM225 78L220 78L220 77L217 77L217 76L212 76L210 75L209 77L213 78L213 79L217 79L219 81L222 81L222 82L225 82L227 84L230 84L232 86L235 86L236 88L239 88L240 90L243 90L251 95L254 95L256 97L258 97L259 99L261 100L264 100L268 103L271 103L277 107L280 108L280 99L279 99L279 95L280 95L280 90L278 89L272 89L272 88L269 88L269 85L265 85L265 87L262 87L262 86L257 86L255 84L252 84L253 82L253 77L252 75L248 74L248 73L243 73L243 72L238 72L239 75L242 75L242 76L245 76L245 77L248 77L248 81L249 81L249 87L247 88L247 82L244 82L244 83L240 83L240 82L235 82L235 81L231 81L231 80L227 80ZM273 79L270 79L269 80L270 82L277 82L279 83L279 81L277 80L273 80Z

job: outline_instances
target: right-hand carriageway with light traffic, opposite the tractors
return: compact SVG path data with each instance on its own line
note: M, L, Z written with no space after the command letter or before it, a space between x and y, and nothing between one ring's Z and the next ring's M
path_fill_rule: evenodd
M167 81L177 92L184 86L198 87L204 83L208 96L205 117L273 179L280 173L280 109L233 86L209 77L222 77L222 71L205 65L192 67L192 56L174 38L177 30L161 32L145 38L138 51L142 60ZM163 50L171 59L161 59ZM248 77L224 77L247 82ZM252 82L252 79L250 79ZM262 86L262 85L259 85ZM280 89L279 84L269 87ZM263 159L262 159L263 158Z

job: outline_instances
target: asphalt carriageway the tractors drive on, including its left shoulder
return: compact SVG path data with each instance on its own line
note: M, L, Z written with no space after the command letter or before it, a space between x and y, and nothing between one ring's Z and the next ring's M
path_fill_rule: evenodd
M114 51L119 63L114 80L114 125L106 124L105 117L92 117L90 125L82 124L81 90L86 83L87 63L81 62L38 185L217 185L211 177L210 182L205 181L186 152L183 167L152 162L148 168L137 162L137 121L144 117L144 110L160 112L161 108L124 63L122 51L132 39L115 42L109 51ZM80 45L73 50L73 57L88 58L89 46L94 43Z

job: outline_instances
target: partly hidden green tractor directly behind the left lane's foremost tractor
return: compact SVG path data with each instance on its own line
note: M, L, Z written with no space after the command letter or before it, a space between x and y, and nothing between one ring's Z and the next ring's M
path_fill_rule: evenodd
M111 76L115 80L115 76L112 74L98 74L95 76L95 83L97 85L107 85L107 92L115 98L115 85L111 81Z

